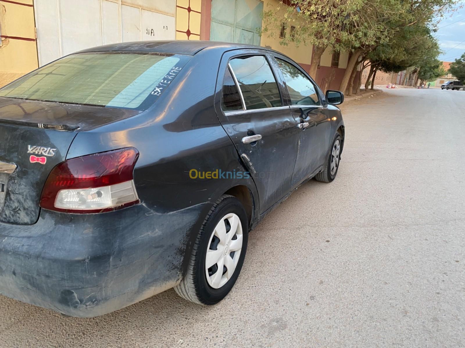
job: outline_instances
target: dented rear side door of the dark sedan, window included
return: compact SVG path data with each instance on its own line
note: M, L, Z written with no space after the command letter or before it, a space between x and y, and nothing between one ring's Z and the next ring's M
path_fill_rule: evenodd
M265 53L234 51L223 57L218 77L217 114L257 186L260 213L291 191L299 138L270 64Z

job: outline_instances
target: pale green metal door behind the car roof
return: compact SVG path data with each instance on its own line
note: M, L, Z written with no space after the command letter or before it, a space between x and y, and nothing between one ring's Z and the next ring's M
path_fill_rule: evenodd
M210 40L260 45L263 2L213 0Z

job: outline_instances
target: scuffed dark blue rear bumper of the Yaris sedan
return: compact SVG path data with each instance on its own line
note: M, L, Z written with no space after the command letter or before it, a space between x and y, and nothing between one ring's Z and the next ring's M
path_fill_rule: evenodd
M88 215L42 210L32 226L0 223L0 294L76 317L139 302L180 281L190 231L210 207L167 214L143 205Z

